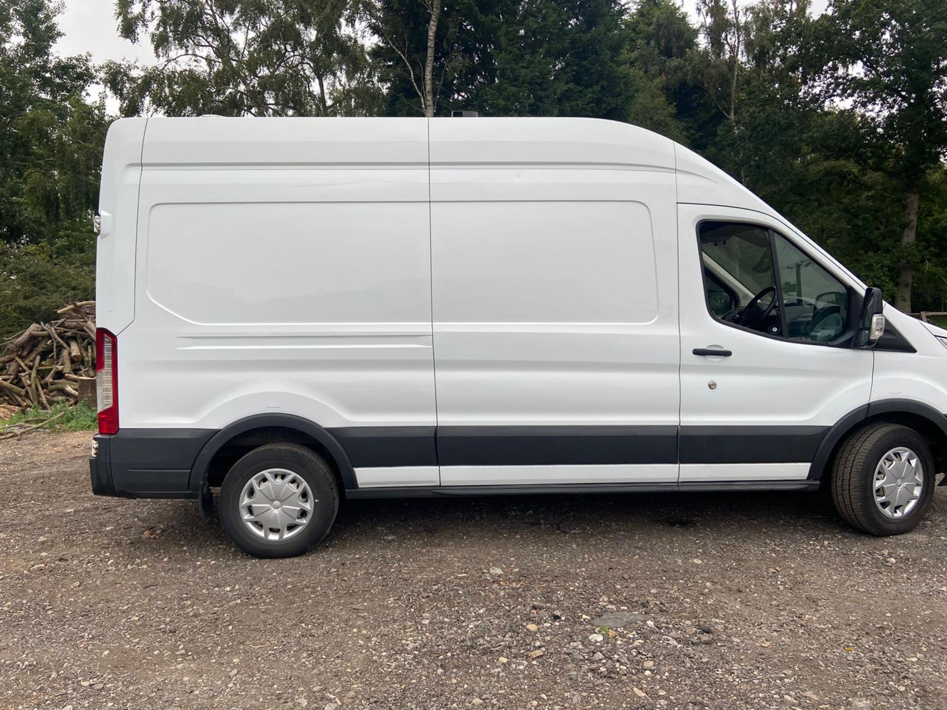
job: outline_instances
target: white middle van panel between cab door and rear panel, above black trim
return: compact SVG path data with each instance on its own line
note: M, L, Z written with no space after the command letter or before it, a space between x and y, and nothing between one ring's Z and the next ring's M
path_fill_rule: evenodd
M440 425L676 425L672 144L629 128L431 121Z

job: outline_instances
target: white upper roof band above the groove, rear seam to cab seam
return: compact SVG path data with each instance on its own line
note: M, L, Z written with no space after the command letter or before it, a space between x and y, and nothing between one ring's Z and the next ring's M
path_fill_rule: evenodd
M427 143L430 136L431 154ZM669 138L594 118L152 117L145 165L520 164L674 169Z

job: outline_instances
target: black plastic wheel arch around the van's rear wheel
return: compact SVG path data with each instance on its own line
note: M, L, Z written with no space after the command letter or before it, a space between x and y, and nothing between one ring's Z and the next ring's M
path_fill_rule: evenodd
M211 436L191 467L191 490L220 486L223 476L245 453L275 443L312 449L334 470L340 489L357 488L348 455L326 429L304 417L267 414L239 419Z

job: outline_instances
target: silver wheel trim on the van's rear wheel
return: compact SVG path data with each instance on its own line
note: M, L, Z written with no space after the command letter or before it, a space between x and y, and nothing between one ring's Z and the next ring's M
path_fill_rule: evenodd
M313 518L313 491L292 470L266 469L250 477L240 494L240 518L262 540L298 535Z

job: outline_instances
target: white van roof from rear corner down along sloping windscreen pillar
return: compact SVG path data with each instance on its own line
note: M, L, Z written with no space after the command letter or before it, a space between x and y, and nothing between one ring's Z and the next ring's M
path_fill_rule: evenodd
M117 143L123 145L113 145ZM109 130L107 154L110 147L116 155L119 149L121 154L140 149L146 169L509 166L676 172L676 202L742 207L770 215L838 264L724 170L670 138L618 121L152 116L116 121Z

